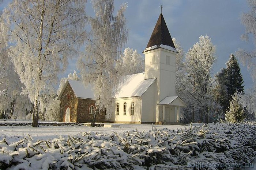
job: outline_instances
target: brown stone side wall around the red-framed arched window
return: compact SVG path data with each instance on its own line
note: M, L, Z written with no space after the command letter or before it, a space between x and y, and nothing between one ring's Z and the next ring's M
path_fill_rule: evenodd
M91 122L93 114L89 114L90 106L95 106L95 100L78 99L77 122ZM97 115L96 122L104 122L105 114Z

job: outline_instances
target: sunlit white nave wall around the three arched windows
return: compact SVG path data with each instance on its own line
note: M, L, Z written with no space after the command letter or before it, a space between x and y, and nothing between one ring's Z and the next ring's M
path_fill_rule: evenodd
M124 102L126 105L126 115L124 115ZM134 102L134 114L131 115L131 103ZM140 122L140 112L141 112L141 99L140 97L135 98L119 98L116 99L116 103L119 103L119 115L115 112L112 114L110 121L111 122Z

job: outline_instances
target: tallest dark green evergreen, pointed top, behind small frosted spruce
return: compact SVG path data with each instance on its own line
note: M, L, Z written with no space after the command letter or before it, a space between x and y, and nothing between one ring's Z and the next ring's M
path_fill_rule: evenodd
M228 99L230 100L232 95L234 95L236 92L244 92L244 86L242 86L244 81L240 73L240 67L237 59L233 54L230 54L226 66L226 87Z

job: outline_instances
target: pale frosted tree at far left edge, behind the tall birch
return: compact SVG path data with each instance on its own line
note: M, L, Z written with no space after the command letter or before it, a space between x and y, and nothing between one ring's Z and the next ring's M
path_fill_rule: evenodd
M20 94L23 84L15 73L14 65L8 58L8 50L3 42L0 43L0 112L5 118L25 119L31 111L29 98Z

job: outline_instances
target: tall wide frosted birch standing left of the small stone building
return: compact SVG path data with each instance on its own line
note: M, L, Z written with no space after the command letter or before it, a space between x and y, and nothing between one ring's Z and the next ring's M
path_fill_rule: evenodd
M38 126L39 100L53 91L57 74L84 40L86 0L13 0L1 15L1 38L34 102L32 126Z

